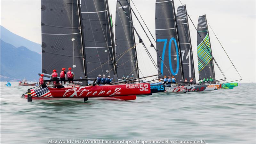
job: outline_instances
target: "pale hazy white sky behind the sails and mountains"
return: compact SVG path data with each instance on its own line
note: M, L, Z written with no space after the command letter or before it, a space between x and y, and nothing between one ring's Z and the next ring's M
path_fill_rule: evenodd
M155 36L155 0L133 0L144 21ZM256 1L255 0L181 0L186 4L188 14L197 26L198 16L206 14L207 21L212 26L230 59L243 77L241 82L256 82ZM174 1L175 9L180 6L179 0ZM1 25L11 32L28 40L41 44L41 1L40 0L0 0ZM134 8L134 6L132 5ZM115 19L116 0L109 0L110 12ZM156 52L143 34L138 22L133 17L135 27L142 35L146 46L152 53ZM115 20L114 20L115 21ZM193 47L195 70L196 59L196 29L189 22ZM232 64L225 56L219 42L210 30L213 56L220 65L228 80L239 78ZM138 42L138 41L137 41ZM154 43L154 45L156 45ZM153 65L149 63L144 48L137 47L139 67L144 76L156 74ZM156 60L156 56L154 57ZM217 67L216 77L222 78ZM198 75L198 71L196 71ZM198 76L196 77L198 79Z

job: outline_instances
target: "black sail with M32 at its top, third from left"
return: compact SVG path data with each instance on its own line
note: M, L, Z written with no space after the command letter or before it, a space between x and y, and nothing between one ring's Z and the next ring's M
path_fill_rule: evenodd
M134 78L138 78L138 61L132 28L132 15L126 0L117 0L115 28L117 76L121 78L123 75L133 75Z

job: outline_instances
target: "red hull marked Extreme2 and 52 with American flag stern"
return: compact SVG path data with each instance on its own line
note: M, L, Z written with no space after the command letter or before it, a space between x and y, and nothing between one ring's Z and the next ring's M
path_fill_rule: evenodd
M135 100L136 95L149 94L149 84L95 85L69 88L38 88L31 89L32 98L99 98L123 97L124 100ZM119 99L119 98L118 98Z

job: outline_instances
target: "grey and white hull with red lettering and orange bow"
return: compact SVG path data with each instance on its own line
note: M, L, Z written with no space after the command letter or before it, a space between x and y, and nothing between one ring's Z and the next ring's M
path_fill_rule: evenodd
M203 92L213 91L221 88L220 84L202 84L202 85L186 85L165 87L166 92Z

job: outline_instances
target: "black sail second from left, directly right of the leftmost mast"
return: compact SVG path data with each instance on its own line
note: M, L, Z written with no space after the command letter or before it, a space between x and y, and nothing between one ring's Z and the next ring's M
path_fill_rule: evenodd
M84 50L86 54L87 76L116 74L115 45L110 23L108 1L81 0Z

